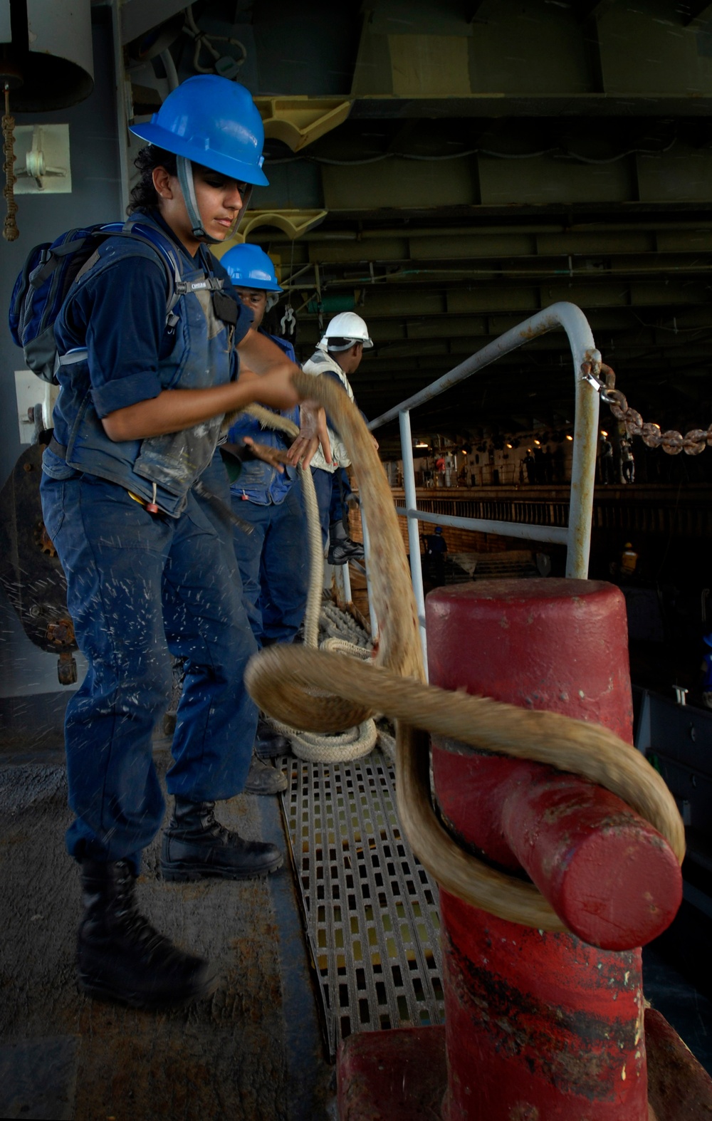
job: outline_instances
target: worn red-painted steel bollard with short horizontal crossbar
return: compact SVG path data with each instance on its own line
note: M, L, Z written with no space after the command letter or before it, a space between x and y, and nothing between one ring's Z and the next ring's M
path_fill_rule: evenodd
M427 634L434 685L595 721L630 742L626 612L611 585L441 589L427 599ZM679 905L672 851L618 798L552 768L434 738L433 770L453 833L526 871L585 938L441 892L443 1119L648 1121L638 947Z

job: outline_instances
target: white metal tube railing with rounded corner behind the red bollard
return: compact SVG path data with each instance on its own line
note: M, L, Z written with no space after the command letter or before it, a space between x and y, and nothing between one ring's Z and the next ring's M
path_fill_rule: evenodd
M575 414L573 463L571 472L571 497L568 504L568 527L529 526L514 521L499 521L484 518L455 518L441 513L427 513L418 510L415 493L415 467L413 463L413 437L410 433L410 411L432 400L440 393L464 381L471 374L482 370L502 354L523 346L531 339L562 327L568 336L574 367ZM400 447L403 452L403 480L406 504L397 507L397 512L408 519L408 543L410 547L410 575L418 611L420 639L423 650L427 650L425 641L425 596L423 593L423 568L420 564L419 521L435 522L438 526L453 526L457 529L474 529L483 532L500 534L503 537L520 537L535 541L553 541L566 545L566 576L585 580L589 575L589 554L591 550L591 517L593 510L593 487L595 482L595 454L599 426L599 391L595 386L582 376L582 365L590 363L594 374L598 374L601 355L595 350L593 334L589 322L575 304L552 304L543 312L537 312L529 319L507 331L494 342L488 343L477 354L461 362L437 381L432 382L420 392L396 405L388 413L371 420L371 430L380 428L389 420L398 417L400 424ZM364 527L364 541L367 541ZM367 586L368 581L368 547ZM375 626L375 620L371 620ZM375 636L376 637L376 636Z

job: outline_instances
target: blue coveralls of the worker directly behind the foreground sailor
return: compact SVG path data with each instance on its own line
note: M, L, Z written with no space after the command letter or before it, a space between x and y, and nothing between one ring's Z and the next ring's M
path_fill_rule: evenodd
M262 334L296 361L292 343ZM298 424L298 409L281 415ZM262 428L259 420L243 414L230 429L229 439L239 443L244 436L269 447L287 448L292 444L285 433ZM235 515L253 527L251 534L234 530L234 552L252 633L260 647L292 642L304 619L308 591L306 521L297 469L285 465L281 474L261 460L247 460L230 489Z

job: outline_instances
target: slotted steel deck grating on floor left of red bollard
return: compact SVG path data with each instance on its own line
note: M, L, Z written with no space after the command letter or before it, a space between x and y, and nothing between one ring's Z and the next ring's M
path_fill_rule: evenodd
M400 834L389 763L376 749L348 763L283 765L331 1054L352 1032L441 1023L437 887Z

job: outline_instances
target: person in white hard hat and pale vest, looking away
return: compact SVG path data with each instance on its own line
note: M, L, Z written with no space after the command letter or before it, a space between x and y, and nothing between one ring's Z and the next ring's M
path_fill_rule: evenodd
M372 345L368 327L361 316L354 312L341 312L331 321L315 352L304 363L304 372L314 377L325 374L333 378L353 401L349 374L355 373L361 364L363 351L370 350ZM331 426L329 439L332 462L327 463L317 452L312 460L312 474L324 546L329 543L327 560L330 564L346 564L349 560L363 558L363 546L352 541L346 531L346 503L353 492L344 469L351 464L351 460L339 434ZM373 444L378 448L376 439Z

